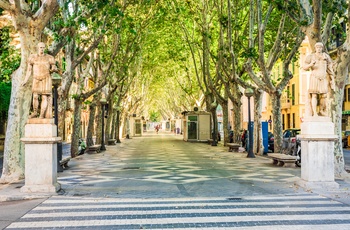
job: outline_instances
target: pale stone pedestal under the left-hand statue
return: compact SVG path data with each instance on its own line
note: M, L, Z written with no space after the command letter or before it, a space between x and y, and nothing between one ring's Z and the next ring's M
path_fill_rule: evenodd
M25 185L21 192L56 193L57 183L57 128L53 119L29 119L25 126Z

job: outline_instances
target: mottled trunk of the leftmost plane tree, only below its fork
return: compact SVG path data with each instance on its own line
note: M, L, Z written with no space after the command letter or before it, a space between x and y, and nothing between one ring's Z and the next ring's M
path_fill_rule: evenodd
M25 22L23 22L25 23ZM26 25L29 27L29 25ZM31 106L31 86L22 87L21 83L26 75L27 60L30 53L36 53L40 42L38 31L35 35L29 33L28 28L19 28L21 39L21 64L12 74L11 100L8 110L8 123L6 130L4 162L1 183L9 183L24 178L24 145L20 139L24 135L24 126L27 122Z

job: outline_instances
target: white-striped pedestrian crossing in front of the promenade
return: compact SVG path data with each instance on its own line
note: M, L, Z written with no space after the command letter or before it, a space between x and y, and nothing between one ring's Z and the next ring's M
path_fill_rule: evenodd
M350 229L350 206L314 194L117 199L53 196L7 229Z

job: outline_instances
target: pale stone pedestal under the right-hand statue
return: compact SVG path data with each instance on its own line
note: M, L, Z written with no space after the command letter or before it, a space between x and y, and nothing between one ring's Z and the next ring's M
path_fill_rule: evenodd
M309 117L301 125L301 180L308 189L332 189L334 181L334 124L329 117Z

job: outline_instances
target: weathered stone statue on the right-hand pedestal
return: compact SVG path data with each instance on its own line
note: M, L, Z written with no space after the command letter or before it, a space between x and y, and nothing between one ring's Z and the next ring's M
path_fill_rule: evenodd
M308 55L303 66L304 70L311 69L308 97L312 116L328 116L327 93L330 86L335 88L333 64L330 56L323 51L323 44L315 44L315 53ZM317 112L319 104L319 112Z

